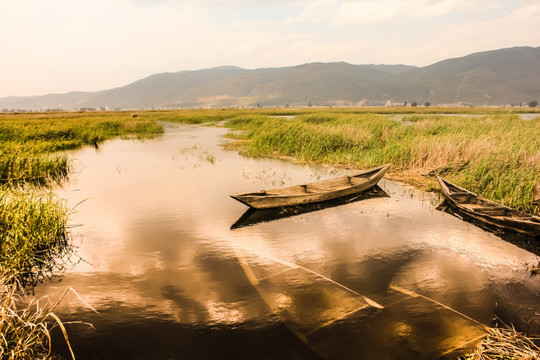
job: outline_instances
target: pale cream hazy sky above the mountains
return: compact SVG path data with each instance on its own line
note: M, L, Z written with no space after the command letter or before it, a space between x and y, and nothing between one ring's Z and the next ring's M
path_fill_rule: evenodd
M538 0L0 0L0 97L221 65L424 66L524 45L540 46Z

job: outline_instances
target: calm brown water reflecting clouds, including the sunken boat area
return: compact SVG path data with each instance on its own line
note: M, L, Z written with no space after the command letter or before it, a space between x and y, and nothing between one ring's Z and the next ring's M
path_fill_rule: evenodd
M225 133L167 125L74 153L57 189L80 225L72 263L36 295L78 293L56 311L78 359L454 358L495 316L538 332L535 255L391 181L246 213L229 194L342 172L244 158L221 148Z

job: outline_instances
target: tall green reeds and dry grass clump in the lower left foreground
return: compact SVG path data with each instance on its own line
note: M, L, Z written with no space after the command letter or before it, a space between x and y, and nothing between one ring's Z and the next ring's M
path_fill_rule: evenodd
M53 274L69 249L68 211L52 194L0 190L0 358L49 358L55 306L21 289Z

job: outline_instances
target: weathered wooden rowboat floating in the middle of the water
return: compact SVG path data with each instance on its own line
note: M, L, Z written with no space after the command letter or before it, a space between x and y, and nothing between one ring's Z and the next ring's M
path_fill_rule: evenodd
M317 181L273 190L231 195L233 199L255 209L309 204L358 194L377 185L390 164L364 170L352 176Z

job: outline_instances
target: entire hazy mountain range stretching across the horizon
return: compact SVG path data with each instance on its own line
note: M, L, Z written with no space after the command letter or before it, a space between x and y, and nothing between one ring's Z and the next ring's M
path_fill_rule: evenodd
M0 98L1 109L146 109L540 100L540 47L471 54L430 66L311 63L247 70L222 66L162 73L98 92Z

